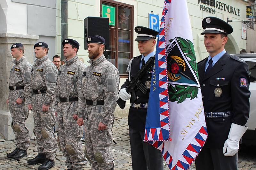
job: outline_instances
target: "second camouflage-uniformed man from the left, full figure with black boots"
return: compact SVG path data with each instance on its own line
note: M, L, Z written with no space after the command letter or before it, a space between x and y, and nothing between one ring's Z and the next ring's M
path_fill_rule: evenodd
M53 132L53 126L56 123L53 95L57 79L57 67L48 59L49 48L46 43L36 43L34 48L37 59L31 70L32 104L28 105L28 109L31 110L33 107L39 154L34 159L29 159L28 164L42 163L38 169L45 170L54 166L57 150L56 135Z

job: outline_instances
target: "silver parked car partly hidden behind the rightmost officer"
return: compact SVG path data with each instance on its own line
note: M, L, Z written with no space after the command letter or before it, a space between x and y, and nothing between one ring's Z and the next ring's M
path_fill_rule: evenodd
M250 116L245 124L249 129L244 133L242 141L244 144L256 145L256 53L233 54L243 59L249 66L250 74Z

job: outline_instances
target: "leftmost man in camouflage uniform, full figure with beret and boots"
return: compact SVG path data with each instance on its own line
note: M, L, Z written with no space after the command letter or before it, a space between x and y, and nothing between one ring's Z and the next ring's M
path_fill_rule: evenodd
M23 56L24 46L16 43L11 46L12 61L14 66L11 69L9 78L9 110L12 116L12 128L16 139L16 149L7 154L8 158L20 159L27 156L27 149L30 144L30 135L25 125L29 112L25 105L25 94L29 90L31 64Z

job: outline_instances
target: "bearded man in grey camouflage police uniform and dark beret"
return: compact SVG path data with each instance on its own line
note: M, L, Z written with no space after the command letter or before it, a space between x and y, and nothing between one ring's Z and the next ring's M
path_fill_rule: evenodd
M92 170L112 170L115 163L110 147L113 140L111 129L118 98L119 72L103 55L105 39L90 36L87 43L91 66L81 78L77 124L84 124L84 153Z

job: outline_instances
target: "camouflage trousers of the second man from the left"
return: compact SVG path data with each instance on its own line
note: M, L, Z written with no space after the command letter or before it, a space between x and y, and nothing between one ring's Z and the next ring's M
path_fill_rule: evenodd
M35 123L35 135L37 140L37 151L45 153L46 158L54 159L57 150L56 135L53 126L56 124L54 108L50 105L49 111L42 111L44 94L33 94L32 108Z

